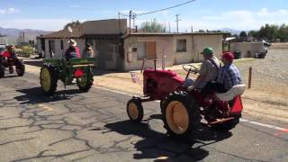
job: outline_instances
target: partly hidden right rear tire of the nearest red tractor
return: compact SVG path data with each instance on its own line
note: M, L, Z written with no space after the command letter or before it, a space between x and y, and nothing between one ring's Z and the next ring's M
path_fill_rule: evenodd
M241 114L235 115L233 117L234 117L233 120L225 121L225 122L222 122L222 123L216 123L216 124L213 124L211 126L212 126L212 128L214 130L219 130L219 131L232 130L239 123Z

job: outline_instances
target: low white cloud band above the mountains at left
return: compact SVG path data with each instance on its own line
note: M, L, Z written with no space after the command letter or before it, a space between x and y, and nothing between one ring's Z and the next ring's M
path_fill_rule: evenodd
M4 28L37 29L45 31L58 31L71 22L69 19L10 19L1 20L0 26Z

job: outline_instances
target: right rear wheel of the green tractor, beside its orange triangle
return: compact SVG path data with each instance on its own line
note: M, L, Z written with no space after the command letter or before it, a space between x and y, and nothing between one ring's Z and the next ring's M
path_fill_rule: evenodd
M89 68L88 73L80 78L76 78L76 83L81 92L88 92L91 86L93 85L93 72Z

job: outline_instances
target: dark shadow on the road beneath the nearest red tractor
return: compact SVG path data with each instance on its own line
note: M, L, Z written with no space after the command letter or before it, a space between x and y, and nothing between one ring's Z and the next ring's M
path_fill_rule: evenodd
M131 142L134 148L141 152L134 154L135 159L165 157L167 161L202 160L209 155L209 151L202 148L203 146L228 139L232 135L230 132L220 133L204 126L194 135L193 146L191 146L151 130L148 124L143 122L117 121L106 124L105 127L122 135L136 135L143 138Z

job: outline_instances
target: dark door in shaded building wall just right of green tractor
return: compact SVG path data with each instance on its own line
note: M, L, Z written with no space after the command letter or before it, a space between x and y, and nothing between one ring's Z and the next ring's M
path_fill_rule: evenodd
M109 51L105 62L106 69L116 69L117 66L117 57L119 53L119 46L118 44L110 44L108 46Z

